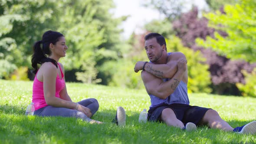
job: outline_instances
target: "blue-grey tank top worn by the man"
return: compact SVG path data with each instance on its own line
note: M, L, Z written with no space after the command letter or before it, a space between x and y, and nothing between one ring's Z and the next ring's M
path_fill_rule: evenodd
M168 56L171 55L171 52L168 52ZM171 79L163 79L164 82L169 81ZM189 105L189 99L187 96L187 84L181 81L177 88L175 89L174 93L169 95L165 99L158 98L154 95L149 95L151 99L151 106L149 108L156 107L161 104L174 104L174 103L179 103L179 104L187 104Z

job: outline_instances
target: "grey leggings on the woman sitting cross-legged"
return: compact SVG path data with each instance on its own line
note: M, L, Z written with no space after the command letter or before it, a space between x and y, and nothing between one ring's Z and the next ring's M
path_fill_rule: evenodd
M78 102L80 105L89 108L92 112L92 115L98 111L98 101L95 98L88 98ZM75 118L82 118L84 121L92 121L92 119L88 118L84 113L81 111L69 109L69 108L59 108L53 106L46 106L43 108L39 108L34 112L34 115L38 116L60 116L60 117L75 117Z

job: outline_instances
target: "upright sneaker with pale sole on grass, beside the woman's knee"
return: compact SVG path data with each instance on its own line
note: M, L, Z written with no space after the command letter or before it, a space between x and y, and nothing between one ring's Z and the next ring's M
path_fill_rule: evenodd
M122 107L118 107L112 123L115 123L118 126L125 126L125 118L125 109Z

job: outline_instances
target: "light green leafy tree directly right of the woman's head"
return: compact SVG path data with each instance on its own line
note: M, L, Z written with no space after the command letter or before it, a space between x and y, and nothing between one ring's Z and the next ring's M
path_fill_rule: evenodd
M108 85L112 75L106 74L111 67L102 67L108 66L106 61L117 62L122 57L118 24L124 18L113 18L109 13L114 7L112 0L69 0L64 7L66 11L59 31L67 34L72 49L66 64L69 69L80 70L76 75L82 82Z

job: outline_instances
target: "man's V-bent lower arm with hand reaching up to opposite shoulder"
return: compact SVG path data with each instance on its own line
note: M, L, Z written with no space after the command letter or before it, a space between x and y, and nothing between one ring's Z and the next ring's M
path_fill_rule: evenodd
M174 74L173 78L167 82L163 82L162 79L146 71L142 71L141 78L148 94L152 94L161 99L165 99L171 95L181 82L184 72L187 69L187 61L185 59L179 59L178 66L179 69Z

